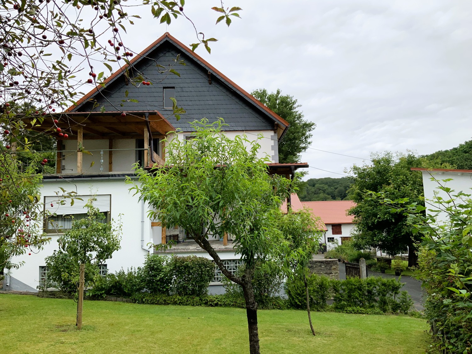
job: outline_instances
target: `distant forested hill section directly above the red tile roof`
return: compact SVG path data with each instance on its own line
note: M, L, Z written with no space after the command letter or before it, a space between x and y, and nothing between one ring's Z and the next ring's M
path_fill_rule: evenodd
M349 178L310 178L300 185L298 197L302 202L347 200L346 191L352 184Z

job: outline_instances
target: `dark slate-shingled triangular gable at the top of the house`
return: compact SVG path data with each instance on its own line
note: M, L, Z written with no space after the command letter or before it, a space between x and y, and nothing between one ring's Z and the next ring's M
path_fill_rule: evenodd
M180 76L158 72L157 63L168 68L174 64L179 54L185 66L177 64L174 65L174 69ZM282 131L288 127L284 119L263 106L169 34L163 35L140 53L132 64L130 76L142 73L146 80L152 82L151 85L140 84L135 87L133 84L126 84L122 70L118 70L110 76L106 87L102 88L100 93L97 89L92 90L85 99L81 99L77 106L71 107L68 111L99 111L101 106L105 106L106 110L113 111L158 110L167 117L172 110L163 108L163 88L175 87L177 105L184 108L186 113L180 115L179 121L173 116L168 120L174 127L184 131L190 130L188 122L202 118L208 118L210 122L216 118L223 118L229 125L228 130L273 130L275 123L279 129L282 128ZM209 72L211 84L209 84ZM122 102L125 99L125 91L128 91L128 99L139 102ZM93 103L86 101L87 97L93 97L99 105L93 108ZM120 106L122 103L123 106Z

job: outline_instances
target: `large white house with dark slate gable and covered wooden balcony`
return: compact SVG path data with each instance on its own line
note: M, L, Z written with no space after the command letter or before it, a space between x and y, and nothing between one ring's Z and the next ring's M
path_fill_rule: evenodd
M177 57L185 61L185 66L176 66ZM174 67L180 76L163 75L157 63ZM152 84L136 84L136 77ZM172 115L170 97L175 97L186 111L180 120ZM264 137L260 154L271 159L268 173L291 177L296 169L308 167L306 163L278 163L278 142L288 129L287 121L168 33L135 55L129 67L125 65L111 75L105 87L93 88L76 106L46 118L39 131L60 127L61 133L68 135L67 139L57 136L56 173L43 177L41 190L45 210L57 213L55 221L61 228L42 223L51 242L39 253L12 259L25 263L18 270L5 270L4 289L36 291L47 273L45 257L57 248L60 232L70 227L70 219L65 217L84 214L84 203L91 194L97 195L97 206L108 219L123 215L121 249L102 266L103 273L141 266L145 255L152 252L148 244L171 239L178 242L171 248L174 254L210 258L186 239L185 230L166 230L158 221L148 219L148 205L128 191L125 178L134 178L132 168L136 162L152 166L154 161L159 164L165 160L166 146L161 139L169 132L179 129L178 136L186 139L192 136L189 122L202 118L212 122L219 117L228 124L224 130L229 136L246 134L254 140L259 134ZM53 123L53 119L59 123ZM84 153L82 146L93 155ZM84 202L76 200L72 207L70 203L59 205L56 192L60 188L76 192ZM215 236L212 242L226 267L235 271L240 261L231 240L223 236L220 241ZM214 283L220 280L219 270L215 269Z

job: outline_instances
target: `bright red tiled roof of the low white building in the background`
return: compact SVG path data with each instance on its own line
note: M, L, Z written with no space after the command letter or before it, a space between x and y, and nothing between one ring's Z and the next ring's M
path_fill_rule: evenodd
M330 200L318 202L301 202L313 216L318 216L325 224L352 224L354 216L346 215L356 203L351 200Z

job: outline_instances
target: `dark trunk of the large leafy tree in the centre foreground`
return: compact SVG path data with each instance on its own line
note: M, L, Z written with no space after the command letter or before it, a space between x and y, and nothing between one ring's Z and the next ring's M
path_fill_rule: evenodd
M249 353L260 354L259 331L257 329L257 303L254 296L252 274L246 269L243 276L244 300L246 302L247 329L249 331Z

